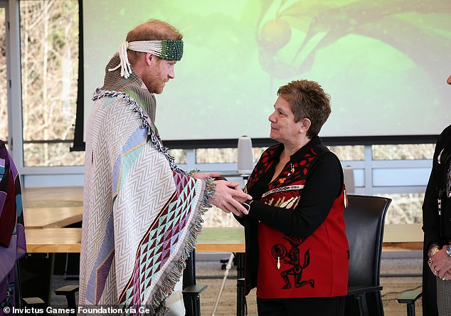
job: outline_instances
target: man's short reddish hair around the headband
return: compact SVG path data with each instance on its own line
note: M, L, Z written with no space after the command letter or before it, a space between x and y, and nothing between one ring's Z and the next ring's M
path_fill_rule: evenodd
M181 40L183 35L171 24L164 21L150 19L149 21L140 24L136 28L127 33L127 42L134 41L161 41L165 39L169 40ZM139 55L144 54L137 51L128 50L128 58L130 63L134 63L139 58Z

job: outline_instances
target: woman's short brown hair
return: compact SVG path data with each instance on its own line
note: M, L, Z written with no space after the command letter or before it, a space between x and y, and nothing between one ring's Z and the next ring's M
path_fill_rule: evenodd
M322 125L330 115L330 96L315 81L295 80L277 90L284 100L290 103L295 122L307 117L312 125L307 130L310 139L319 134Z

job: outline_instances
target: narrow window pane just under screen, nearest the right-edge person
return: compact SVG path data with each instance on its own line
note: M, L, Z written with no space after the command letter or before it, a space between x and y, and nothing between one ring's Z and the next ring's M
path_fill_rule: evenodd
M374 160L433 159L435 144L373 145Z

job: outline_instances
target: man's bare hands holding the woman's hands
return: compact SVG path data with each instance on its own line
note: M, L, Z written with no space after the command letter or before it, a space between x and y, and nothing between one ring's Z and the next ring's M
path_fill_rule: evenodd
M196 179L206 179L207 177L220 177L220 172L213 172L210 174L192 174L192 177ZM240 184L234 181L216 180L213 181L216 184L216 191L213 197L209 200L211 204L222 209L226 213L233 213L236 216L243 216L248 214L248 210L245 209L243 202L252 199L252 196L245 194L240 188Z

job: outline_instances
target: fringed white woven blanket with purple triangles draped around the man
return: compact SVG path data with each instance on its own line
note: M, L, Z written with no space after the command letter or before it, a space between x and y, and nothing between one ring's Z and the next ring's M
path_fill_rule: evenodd
M79 301L163 315L215 185L176 166L156 133L154 95L119 73L106 71L87 125Z

